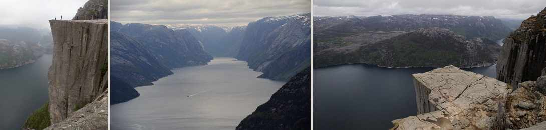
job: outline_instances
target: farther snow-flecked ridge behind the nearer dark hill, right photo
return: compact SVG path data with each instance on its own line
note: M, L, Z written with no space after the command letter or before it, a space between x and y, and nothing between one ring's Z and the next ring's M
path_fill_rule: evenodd
M506 38L512 29L495 17L456 15L393 15L373 17L313 17L314 34L363 33L363 32L411 32L419 28L444 28L459 35L493 40ZM320 36L319 36L320 37Z

